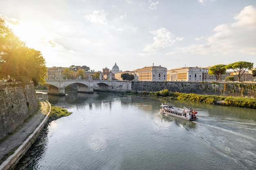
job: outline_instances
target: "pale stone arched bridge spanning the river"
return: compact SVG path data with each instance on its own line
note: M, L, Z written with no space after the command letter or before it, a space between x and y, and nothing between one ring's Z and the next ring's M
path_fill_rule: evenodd
M122 91L131 90L131 81L106 81L106 80L46 80L49 87L48 94L65 95L65 87L77 85L77 92L93 93L94 89Z

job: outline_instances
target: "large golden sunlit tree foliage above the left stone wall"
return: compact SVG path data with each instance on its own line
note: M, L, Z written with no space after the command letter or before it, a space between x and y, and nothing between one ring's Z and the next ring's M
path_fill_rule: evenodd
M34 85L45 83L47 68L40 51L28 48L0 18L0 74Z

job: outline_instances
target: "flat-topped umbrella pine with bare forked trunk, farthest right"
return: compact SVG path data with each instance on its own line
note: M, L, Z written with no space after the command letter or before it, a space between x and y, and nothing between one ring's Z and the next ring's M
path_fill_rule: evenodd
M241 76L245 73L245 70L251 70L253 68L253 63L238 61L235 63L231 63L225 66L225 69L234 70L235 74L238 76L238 81L240 81Z

